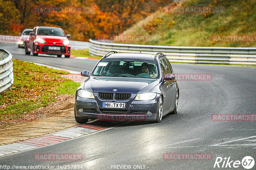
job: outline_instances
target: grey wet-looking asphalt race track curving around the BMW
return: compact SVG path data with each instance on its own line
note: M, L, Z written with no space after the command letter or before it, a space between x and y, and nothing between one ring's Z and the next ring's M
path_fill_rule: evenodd
M13 59L81 72L98 60L25 55L17 45L0 44ZM207 81L178 80L179 110L160 123L98 122L106 130L0 157L2 165L88 165L89 169L220 169L217 157L230 157L232 168L245 156L256 160L256 122L213 121L212 114L256 114L256 67L172 64L175 74L211 74ZM13 70L15 74L15 70ZM255 117L254 117L255 118ZM78 161L35 161L35 153L82 153ZM211 160L164 160L164 153L210 153ZM223 161L220 162L222 166ZM120 165L120 166L114 166ZM136 166L134 166L136 165ZM137 166L137 165L142 165ZM226 163L225 165L226 166ZM138 168L139 167L139 168ZM256 165L252 169L255 169ZM74 168L73 168L74 169ZM222 169L222 168L221 168Z

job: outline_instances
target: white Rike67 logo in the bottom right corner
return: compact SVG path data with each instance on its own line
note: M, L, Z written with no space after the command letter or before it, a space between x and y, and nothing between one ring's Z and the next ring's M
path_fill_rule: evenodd
M238 168L241 167L241 165L245 168L245 169L251 169L254 166L254 159L251 156L245 156L242 161L240 160L231 160L230 157L227 158L225 157L224 159L222 159L221 157L217 157L214 163L214 168L218 167L218 168Z

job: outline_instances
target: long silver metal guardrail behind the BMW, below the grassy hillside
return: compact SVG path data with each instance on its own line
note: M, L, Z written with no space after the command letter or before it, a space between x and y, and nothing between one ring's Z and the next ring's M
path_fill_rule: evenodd
M120 53L162 52L171 62L256 65L254 47L151 46L89 41L89 53L97 56L104 56L112 50Z

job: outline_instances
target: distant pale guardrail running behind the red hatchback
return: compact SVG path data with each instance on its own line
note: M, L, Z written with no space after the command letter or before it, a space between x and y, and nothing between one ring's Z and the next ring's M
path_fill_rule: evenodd
M22 43L19 36L0 35L0 43L4 44L19 44ZM72 49L89 49L89 42L71 41L69 40Z

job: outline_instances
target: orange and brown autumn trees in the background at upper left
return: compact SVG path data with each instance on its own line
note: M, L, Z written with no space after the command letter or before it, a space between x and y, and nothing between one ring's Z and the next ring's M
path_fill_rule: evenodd
M172 0L0 0L0 34L35 26L61 27L72 40L117 35ZM82 12L36 13L36 7L79 7Z

